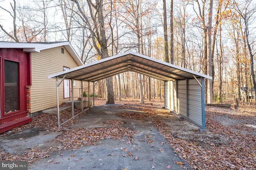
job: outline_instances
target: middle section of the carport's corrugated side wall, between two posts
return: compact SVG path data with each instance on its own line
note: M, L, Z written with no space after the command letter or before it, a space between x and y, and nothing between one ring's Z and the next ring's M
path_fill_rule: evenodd
M186 80L177 81L178 83L178 113L187 117L187 86Z

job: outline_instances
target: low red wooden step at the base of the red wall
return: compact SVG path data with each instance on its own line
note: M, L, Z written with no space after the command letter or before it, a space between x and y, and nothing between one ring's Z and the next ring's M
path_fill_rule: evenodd
M25 125L27 123L30 123L31 121L32 121L32 117L22 117L19 119L15 119L13 121L3 123L2 125L0 125L0 133L6 132L8 130L11 130L21 125Z

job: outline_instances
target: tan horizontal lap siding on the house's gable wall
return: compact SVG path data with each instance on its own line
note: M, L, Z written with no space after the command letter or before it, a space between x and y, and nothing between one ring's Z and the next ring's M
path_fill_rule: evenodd
M64 49L64 54L61 53L61 48ZM45 49L40 53L31 53L31 113L56 106L56 79L47 79L47 76L63 71L63 66L69 68L78 66L64 46ZM64 99L63 87L62 82L58 87L60 103L70 100ZM76 82L74 97L79 97L79 87L80 82Z

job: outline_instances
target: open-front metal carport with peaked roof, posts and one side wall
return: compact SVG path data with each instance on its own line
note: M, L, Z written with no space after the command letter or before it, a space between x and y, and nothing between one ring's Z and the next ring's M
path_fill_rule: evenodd
M134 71L164 81L165 107L205 130L204 79L212 77L132 51L49 75L48 78L56 78L58 125L60 126L58 86L64 79L96 82L126 71ZM61 81L58 82L58 79ZM73 110L72 104L72 116Z

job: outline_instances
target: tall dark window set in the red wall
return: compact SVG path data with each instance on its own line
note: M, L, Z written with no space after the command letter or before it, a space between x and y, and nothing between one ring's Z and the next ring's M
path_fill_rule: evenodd
M18 63L4 60L4 113L19 110Z

